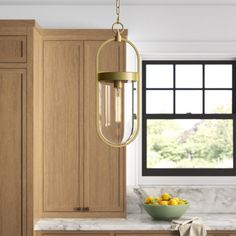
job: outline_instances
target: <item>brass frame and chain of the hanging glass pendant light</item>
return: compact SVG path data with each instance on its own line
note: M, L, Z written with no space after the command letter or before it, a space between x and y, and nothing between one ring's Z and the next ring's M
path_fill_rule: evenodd
M126 38L122 37L122 33L124 32L124 25L120 22L120 0L116 0L116 15L117 19L116 22L112 24L112 31L114 33L114 37L111 39L108 39L104 43L101 44L101 46L98 49L97 56L96 56L96 74L97 74L97 79L96 79L96 127L97 127L97 133L101 140L105 142L106 144L112 146L112 147L124 147L131 143L138 135L139 132L139 126L140 126L140 95L141 95L141 86L140 86L140 56L138 49L136 46L129 41ZM101 50L103 47L105 47L107 44L112 43L112 42L117 42L117 43L126 43L129 44L135 51L136 58L137 58L137 71L136 72L118 72L118 71L113 71L113 72L103 72L99 70L99 56L101 53ZM99 114L99 83L113 83L114 88L117 90L121 90L124 86L124 83L127 82L136 82L137 83L137 108L136 108L136 114L133 115L133 122L137 123L136 127L133 127L132 132L130 136L124 140L121 141L120 143L114 143L113 141L108 140L102 133L99 121L100 121L100 114ZM121 104L121 103L119 103ZM119 110L120 111L120 110ZM120 113L119 113L120 114ZM119 119L118 119L119 118ZM121 122L121 116L117 116L116 119L117 123ZM134 124L134 123L133 123Z

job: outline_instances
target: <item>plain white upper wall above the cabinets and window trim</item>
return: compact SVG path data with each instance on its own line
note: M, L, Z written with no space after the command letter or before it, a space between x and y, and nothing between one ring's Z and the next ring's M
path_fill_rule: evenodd
M37 19L46 28L110 28L115 9L111 5L15 6L0 1L0 18ZM121 21L130 38L139 41L235 40L235 20L235 5L121 6Z

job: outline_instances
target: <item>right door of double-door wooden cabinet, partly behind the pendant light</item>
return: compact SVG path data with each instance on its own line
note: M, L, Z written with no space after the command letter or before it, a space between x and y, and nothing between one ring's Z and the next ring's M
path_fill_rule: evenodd
M124 148L103 143L96 132L96 53L101 41L85 42L84 64L84 205L91 212L124 211ZM104 70L122 70L123 46L110 44L101 53Z

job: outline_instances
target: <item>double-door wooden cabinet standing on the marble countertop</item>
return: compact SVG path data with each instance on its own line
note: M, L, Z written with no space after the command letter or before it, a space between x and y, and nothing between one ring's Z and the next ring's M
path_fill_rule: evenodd
M39 217L125 215L125 149L109 147L96 132L96 53L103 42L96 38L103 32L45 37ZM123 69L123 45L111 44L101 58L103 68Z

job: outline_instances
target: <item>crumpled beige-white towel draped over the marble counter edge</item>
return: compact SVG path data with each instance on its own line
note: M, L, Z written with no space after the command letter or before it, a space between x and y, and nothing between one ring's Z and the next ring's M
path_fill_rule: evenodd
M189 220L172 220L172 230L179 230L180 236L207 236L205 225L198 217Z

